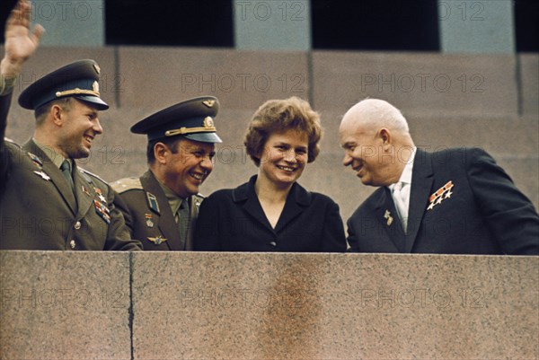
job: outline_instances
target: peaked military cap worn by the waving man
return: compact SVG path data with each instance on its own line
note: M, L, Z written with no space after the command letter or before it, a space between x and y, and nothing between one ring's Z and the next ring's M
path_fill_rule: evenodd
M93 60L79 60L60 67L41 77L19 96L24 109L36 110L49 101L72 96L90 102L98 110L107 110L109 105L102 101L99 93L100 67Z

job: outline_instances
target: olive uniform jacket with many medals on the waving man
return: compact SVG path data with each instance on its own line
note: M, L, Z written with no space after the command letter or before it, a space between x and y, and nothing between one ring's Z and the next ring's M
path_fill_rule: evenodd
M33 141L4 141L11 94L0 96L0 249L140 250L113 206L110 186L74 167L75 194Z

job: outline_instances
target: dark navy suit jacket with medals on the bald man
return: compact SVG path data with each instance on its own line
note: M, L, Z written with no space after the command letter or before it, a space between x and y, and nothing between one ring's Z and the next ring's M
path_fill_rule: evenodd
M396 214L390 190L377 189L349 218L350 250L539 254L533 204L479 148L418 149L407 234Z

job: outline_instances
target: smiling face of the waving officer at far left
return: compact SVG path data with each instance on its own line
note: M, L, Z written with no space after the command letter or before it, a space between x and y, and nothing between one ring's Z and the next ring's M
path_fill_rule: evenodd
M93 139L103 132L98 110L90 103L75 99L60 108L61 126L57 131L57 149L66 158L90 156Z

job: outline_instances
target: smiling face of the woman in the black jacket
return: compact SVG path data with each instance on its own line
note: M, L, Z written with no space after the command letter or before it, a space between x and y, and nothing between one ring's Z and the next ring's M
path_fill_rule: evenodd
M273 133L259 154L259 178L278 187L288 187L299 179L308 158L308 137L294 129Z

